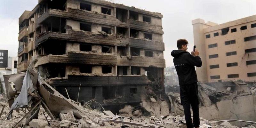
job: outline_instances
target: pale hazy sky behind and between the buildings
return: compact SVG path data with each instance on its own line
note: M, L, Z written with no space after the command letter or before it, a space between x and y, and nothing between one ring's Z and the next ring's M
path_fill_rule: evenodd
M8 56L17 56L20 15L25 10L31 11L37 3L38 0L0 0L0 49L8 50ZM114 3L163 14L166 67L173 66L171 51L177 49L178 39L187 39L188 52L193 50L191 20L200 18L221 24L256 14L256 0L114 0Z

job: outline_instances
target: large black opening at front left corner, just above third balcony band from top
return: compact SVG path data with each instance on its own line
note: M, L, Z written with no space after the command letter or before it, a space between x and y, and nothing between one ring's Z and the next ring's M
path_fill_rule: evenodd
M54 43L52 43L54 42ZM57 40L48 40L42 44L43 49L39 49L39 53L44 55L63 55L66 54L66 42ZM49 47L50 46L50 47Z

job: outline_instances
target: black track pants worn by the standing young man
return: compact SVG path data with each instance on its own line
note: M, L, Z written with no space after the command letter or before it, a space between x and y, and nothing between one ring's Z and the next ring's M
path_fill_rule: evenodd
M199 127L199 100L197 83L185 84L180 86L180 99L184 108L187 128ZM193 110L193 123L191 119L190 105ZM194 124L194 125L193 125Z

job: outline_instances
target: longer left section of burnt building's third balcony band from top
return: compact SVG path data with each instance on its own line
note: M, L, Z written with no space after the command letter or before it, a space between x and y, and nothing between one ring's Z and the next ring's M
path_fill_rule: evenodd
M38 59L36 65L47 63L73 63L90 65L116 65L116 56L68 52L68 55L47 55Z

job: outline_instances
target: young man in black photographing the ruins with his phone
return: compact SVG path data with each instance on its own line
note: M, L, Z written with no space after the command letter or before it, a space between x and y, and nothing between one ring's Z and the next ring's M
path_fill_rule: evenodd
M196 76L196 67L202 66L199 52L187 52L188 41L185 39L177 40L177 47L179 50L173 50L171 55L173 63L179 76L180 84L180 100L184 108L187 128L199 127L199 100L198 100L198 85ZM190 105L193 110L193 123L191 119Z

